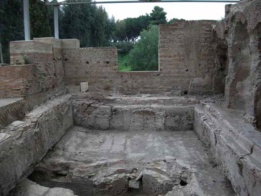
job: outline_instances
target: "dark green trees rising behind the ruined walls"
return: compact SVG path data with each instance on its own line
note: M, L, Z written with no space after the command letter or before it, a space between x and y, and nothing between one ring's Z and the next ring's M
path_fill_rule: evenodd
M81 2L86 0L71 0ZM88 0L91 1L91 0ZM4 62L9 62L9 41L23 40L23 1L1 0L0 43ZM96 4L70 4L58 9L59 37L76 38L81 47L116 46L132 70L157 70L158 27L167 23L164 9L155 6L150 14L115 21ZM31 38L54 37L53 7L29 0ZM169 22L173 22L175 18ZM155 26L153 26L155 25ZM131 50L130 55L126 56ZM126 58L125 58L126 56ZM137 61L136 61L137 60ZM147 66L149 65L149 66ZM147 66L147 67L146 67Z

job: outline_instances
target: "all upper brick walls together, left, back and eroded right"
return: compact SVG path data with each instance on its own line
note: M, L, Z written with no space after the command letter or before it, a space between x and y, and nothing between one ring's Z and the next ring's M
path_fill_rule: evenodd
M260 10L260 1L243 0L227 5L221 21L160 25L158 71L118 72L116 48L80 48L77 39L10 42L16 65L0 67L0 98L56 91L64 84L77 90L81 82L105 94L225 92L227 107L261 119ZM25 62L30 64L20 65Z

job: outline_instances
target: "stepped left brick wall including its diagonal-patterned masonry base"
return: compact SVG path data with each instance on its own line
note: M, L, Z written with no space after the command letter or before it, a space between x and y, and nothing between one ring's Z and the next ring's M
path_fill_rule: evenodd
M22 97L0 107L0 129L22 119L36 105L63 94L64 69L62 41L36 38L32 41L10 42L10 66L0 66L0 98ZM32 63L20 65L25 63ZM7 99L1 99L5 102Z

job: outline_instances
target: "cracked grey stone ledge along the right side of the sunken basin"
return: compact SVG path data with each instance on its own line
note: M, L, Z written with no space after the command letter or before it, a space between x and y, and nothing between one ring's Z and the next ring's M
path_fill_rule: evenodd
M194 109L194 131L210 147L217 164L226 173L238 195L261 195L261 162L258 145L249 146L242 123L233 122L233 116L223 116L221 108L206 105ZM208 112L207 112L207 111ZM232 112L233 114L233 112ZM242 132L240 132L240 125ZM248 126L251 128L251 126ZM254 128L252 128L253 130ZM250 130L251 131L251 130ZM256 135L260 133L255 130ZM250 138L249 138L250 139Z

